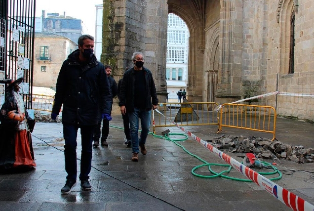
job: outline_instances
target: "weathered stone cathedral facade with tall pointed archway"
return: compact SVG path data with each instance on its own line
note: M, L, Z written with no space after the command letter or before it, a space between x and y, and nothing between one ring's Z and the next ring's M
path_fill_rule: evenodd
M165 102L167 14L174 13L190 31L189 101L263 95L250 103L314 121L313 0L103 0L103 6L101 61L113 66L116 80L132 66L133 52L143 52Z

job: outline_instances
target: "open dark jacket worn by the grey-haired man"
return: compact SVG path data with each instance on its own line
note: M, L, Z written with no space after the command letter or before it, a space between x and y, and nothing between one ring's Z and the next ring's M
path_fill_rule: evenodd
M145 86L146 90L143 91L143 97L145 97L145 108L146 110L151 110L153 105L158 104L158 98L156 93L155 82L153 79L152 72L143 67L145 71ZM134 68L127 70L122 78L121 87L119 90L119 106L125 106L126 112L134 112Z

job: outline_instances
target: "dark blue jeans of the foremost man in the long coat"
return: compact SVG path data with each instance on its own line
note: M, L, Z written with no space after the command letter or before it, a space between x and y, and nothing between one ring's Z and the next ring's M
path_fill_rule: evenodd
M89 172L91 169L92 160L92 144L93 144L93 134L95 126L81 126L81 160L80 160L80 174L79 179L88 179ZM65 159L65 169L68 173L68 180L77 180L77 136L79 127L76 125L63 125L63 137L65 140L64 145L64 159Z

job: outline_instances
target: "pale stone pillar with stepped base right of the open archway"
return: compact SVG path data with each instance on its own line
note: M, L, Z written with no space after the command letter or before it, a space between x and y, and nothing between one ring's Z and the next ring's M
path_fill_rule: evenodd
M217 103L241 98L242 0L222 0Z

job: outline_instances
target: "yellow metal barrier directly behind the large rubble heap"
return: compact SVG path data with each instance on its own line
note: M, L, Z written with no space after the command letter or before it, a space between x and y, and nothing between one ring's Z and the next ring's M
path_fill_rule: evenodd
M272 106L223 104L219 110L218 132L222 127L235 127L269 132L275 139L276 111Z

